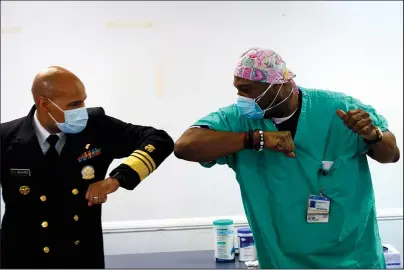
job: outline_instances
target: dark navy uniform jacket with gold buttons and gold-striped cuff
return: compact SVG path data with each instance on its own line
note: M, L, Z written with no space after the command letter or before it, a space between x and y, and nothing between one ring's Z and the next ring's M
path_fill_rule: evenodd
M66 134L56 176L35 135L35 107L1 124L2 268L105 268L101 205L88 206L88 186L125 158L110 176L132 190L173 151L163 130L87 110L87 127Z

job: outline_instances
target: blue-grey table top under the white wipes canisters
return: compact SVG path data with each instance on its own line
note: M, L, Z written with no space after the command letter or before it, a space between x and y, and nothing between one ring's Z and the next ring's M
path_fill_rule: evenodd
M216 263L213 250L105 256L106 268L246 269L244 262Z

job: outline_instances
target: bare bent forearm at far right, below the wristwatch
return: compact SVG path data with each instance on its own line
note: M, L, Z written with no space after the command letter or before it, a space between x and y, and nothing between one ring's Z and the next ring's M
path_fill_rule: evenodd
M396 138L391 132L384 132L383 139L369 145L368 155L380 163L394 163L400 159L400 149L396 144Z

